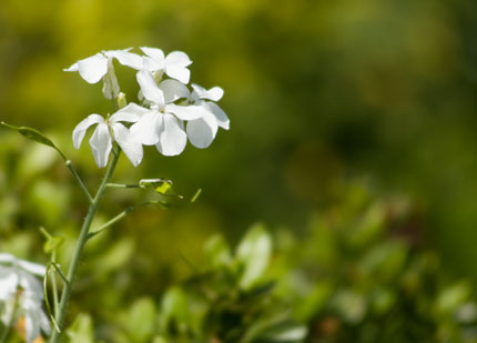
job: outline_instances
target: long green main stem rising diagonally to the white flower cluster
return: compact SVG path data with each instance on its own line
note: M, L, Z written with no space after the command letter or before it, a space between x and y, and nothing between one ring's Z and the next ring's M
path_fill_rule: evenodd
M111 179L114 172L114 169L118 164L120 154L121 154L121 150L118 147L118 151L113 151L112 161L108 167L108 171L104 175L104 179L102 180L101 185L98 189L98 192L94 195L92 203L90 204L90 209L88 211L87 218L84 219L83 225L81 226L80 236L78 238L77 246L74 248L74 252L73 252L73 258L71 260L71 264L68 270L68 275L67 275L68 282L64 283L63 292L61 293L59 311L58 313L55 313L55 321L60 329L62 329L64 324L67 307L71 297L71 289L73 286L73 280L74 280L74 276L77 275L78 265L80 263L84 245L87 244L87 241L89 238L91 223L93 221L94 214L98 211L98 206L101 202L101 199L104 195L104 191L106 190L106 183ZM60 335L61 333L54 330L51 336L50 343L57 343L60 339Z

